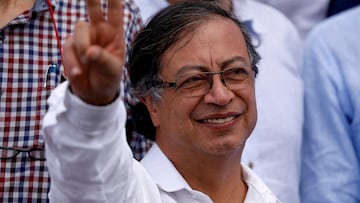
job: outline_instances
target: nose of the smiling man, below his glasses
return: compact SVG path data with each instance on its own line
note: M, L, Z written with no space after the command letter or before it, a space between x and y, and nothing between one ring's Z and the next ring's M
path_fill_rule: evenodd
M220 75L213 75L209 92L204 96L205 103L224 106L234 98L234 93L225 86Z

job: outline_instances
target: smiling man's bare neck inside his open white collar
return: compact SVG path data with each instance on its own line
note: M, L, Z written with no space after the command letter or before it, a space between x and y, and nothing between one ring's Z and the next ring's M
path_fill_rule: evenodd
M216 203L243 202L247 185L243 180L239 152L219 157L169 157L192 189L207 194ZM201 160L201 162L199 162Z

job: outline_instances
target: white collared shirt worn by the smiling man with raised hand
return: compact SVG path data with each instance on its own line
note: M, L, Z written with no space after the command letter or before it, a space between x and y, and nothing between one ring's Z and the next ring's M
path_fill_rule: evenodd
M156 144L143 166L132 158L120 99L91 106L72 95L65 82L52 93L49 105L44 131L50 202L212 202L191 189ZM245 203L280 202L250 169L242 168L249 188Z

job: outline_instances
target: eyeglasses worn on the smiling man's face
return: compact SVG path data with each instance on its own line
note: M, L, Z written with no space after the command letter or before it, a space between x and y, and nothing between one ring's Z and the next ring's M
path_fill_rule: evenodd
M249 77L255 77L257 67L252 66L252 74L248 68L237 67L229 68L218 72L198 72L192 71L178 77L175 82L150 81L146 84L148 89L157 88L175 88L181 95L187 97L199 97L206 95L213 83L212 76L220 74L222 83L229 90L239 90L244 87L244 81Z

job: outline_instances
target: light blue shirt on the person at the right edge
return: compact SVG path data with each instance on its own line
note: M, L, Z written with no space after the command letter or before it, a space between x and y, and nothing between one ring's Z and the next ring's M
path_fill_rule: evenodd
M304 51L303 203L360 202L360 7L309 35Z

